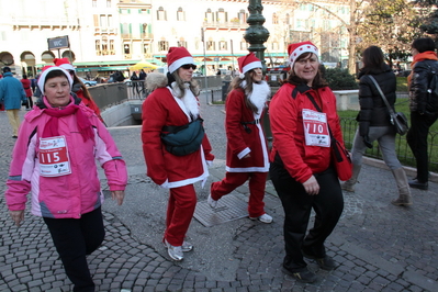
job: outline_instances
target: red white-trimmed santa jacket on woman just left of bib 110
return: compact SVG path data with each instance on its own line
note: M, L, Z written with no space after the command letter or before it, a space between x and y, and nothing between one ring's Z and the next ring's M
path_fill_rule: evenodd
M268 145L261 119L257 119L259 115L246 105L245 99L243 89L232 90L226 98L226 171L267 172L269 171ZM254 121L256 121L254 124L242 123ZM250 157L243 158L248 153Z

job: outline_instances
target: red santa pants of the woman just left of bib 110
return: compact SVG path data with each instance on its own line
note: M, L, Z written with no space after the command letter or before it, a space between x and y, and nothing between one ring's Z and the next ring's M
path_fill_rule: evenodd
M248 214L258 217L265 214L265 187L268 172L226 172L225 178L212 183L211 195L217 201L249 179Z

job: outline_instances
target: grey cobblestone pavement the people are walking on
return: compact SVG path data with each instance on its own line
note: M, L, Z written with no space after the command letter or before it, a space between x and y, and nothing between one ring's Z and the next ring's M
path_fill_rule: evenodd
M223 106L201 101L216 155L206 187L196 187L199 201L204 201L207 186L224 176L225 135ZM188 237L194 250L181 262L169 260L161 244L167 190L145 176L141 128L110 131L126 159L130 182L122 206L105 201L106 236L88 257L98 291L438 291L436 183L429 191L413 190L412 207L396 207L390 203L396 196L391 172L363 166L356 193L345 193L342 217L327 240L338 268L324 271L310 261L319 279L303 284L281 271L283 211L270 181L265 201L272 224L240 218L204 227L193 218ZM7 114L0 112L1 193L14 142ZM108 194L104 178L102 187ZM247 200L247 187L234 194ZM0 291L70 291L43 221L26 212L24 225L16 228L3 195L0 203Z

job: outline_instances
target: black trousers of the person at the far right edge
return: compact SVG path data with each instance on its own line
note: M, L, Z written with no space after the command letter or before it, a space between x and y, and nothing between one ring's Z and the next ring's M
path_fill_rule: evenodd
M411 128L406 141L417 162L417 179L419 182L429 180L429 155L427 153L427 136L429 127L437 121L438 113L411 112Z

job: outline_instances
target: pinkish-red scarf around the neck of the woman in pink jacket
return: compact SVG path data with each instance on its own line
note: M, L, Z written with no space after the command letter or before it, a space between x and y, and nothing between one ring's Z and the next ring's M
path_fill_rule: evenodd
M44 97L44 103L48 105L46 97ZM91 122L90 120L88 120L87 115L82 112L79 105L76 105L74 102L70 102L64 109L48 108L48 106L47 109L44 109L44 113L49 115L50 119L44 126L43 138L59 136L58 119L70 114L76 115L76 123L78 125L80 134L82 135L83 142L87 142L89 138L94 138L94 132L92 130Z

